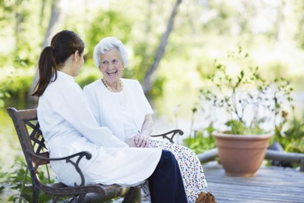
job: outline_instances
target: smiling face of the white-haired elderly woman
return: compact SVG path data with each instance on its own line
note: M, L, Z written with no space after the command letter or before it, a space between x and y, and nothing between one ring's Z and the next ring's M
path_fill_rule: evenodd
M120 59L119 51L113 49L100 54L99 69L108 83L119 82L123 74L123 63Z

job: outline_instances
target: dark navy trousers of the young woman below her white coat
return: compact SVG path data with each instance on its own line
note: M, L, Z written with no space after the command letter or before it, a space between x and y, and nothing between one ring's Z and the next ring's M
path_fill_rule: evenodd
M187 203L179 166L170 151L162 150L161 159L148 181L151 203Z

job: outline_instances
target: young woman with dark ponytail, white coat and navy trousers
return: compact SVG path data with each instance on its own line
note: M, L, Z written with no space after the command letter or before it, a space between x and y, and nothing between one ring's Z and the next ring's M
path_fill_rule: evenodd
M75 32L63 30L40 55L40 78L32 95L39 97L37 116L50 157L89 151L92 158L79 164L85 184L135 186L147 179L151 202L186 203L179 166L171 152L129 147L98 125L73 78L84 63L84 48ZM71 164L53 161L51 165L59 181L69 186L80 183Z

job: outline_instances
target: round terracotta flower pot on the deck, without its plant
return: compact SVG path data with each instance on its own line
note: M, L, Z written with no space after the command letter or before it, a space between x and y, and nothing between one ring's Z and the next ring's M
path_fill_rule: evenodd
M240 135L213 132L226 175L254 176L269 146L272 134Z

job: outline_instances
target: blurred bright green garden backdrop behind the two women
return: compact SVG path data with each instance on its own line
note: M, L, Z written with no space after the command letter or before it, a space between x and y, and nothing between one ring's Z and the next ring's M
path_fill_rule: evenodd
M103 37L122 40L129 52L125 78L139 80L155 110L155 132L209 126L193 118L198 90L207 87L214 59L242 47L245 66L262 76L284 76L294 88L296 116L304 107L304 1L302 0L0 0L0 165L21 154L6 107L35 108L29 96L43 47L62 30L86 43L76 81L98 79L92 53ZM157 62L159 61L159 63ZM192 122L191 120L194 119ZM303 131L303 129L302 129Z

